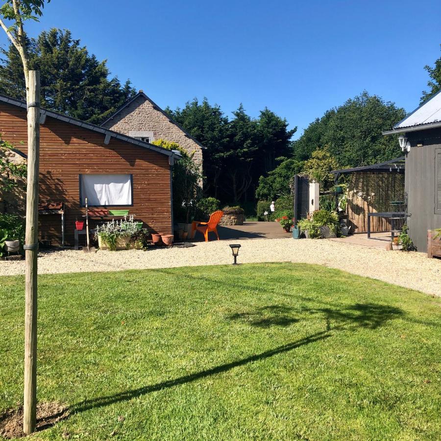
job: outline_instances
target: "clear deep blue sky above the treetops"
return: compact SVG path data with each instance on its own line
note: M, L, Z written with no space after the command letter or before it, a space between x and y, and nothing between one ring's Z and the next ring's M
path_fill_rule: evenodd
M413 110L441 54L439 0L52 0L27 31L50 27L162 107L206 96L256 117L267 106L295 137L364 89Z

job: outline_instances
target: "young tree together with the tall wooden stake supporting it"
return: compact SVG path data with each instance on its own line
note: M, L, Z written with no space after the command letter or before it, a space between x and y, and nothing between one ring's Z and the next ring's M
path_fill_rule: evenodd
M49 3L50 0L48 0ZM25 387L23 431L35 430L37 409L37 247L40 147L40 73L29 71L24 22L42 16L44 0L7 0L0 8L0 26L23 64L27 102L27 191L25 234ZM10 23L9 26L7 26Z

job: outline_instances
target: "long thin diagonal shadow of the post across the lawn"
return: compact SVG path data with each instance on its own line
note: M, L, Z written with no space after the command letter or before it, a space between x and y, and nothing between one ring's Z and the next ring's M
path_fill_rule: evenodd
M219 373L227 372L233 368L237 368L240 366L244 366L247 363L252 363L260 360L265 360L274 355L281 354L284 352L292 351L300 346L304 346L306 344L318 342L320 340L324 340L330 337L330 333L326 331L318 332L309 337L305 337L293 343L284 344L282 346L278 346L269 351L262 352L256 355L250 355L242 360L237 360L231 363L227 363L224 365L216 366L214 368L209 368L202 370L200 372L196 372L189 375L184 375L183 377L175 378L174 380L168 380L161 383L157 383L150 386L145 386L138 389L132 389L130 391L115 393L113 395L102 396L98 398L93 398L90 400L85 400L80 403L74 404L70 411L72 413L84 412L90 409L109 406L114 403L118 403L121 401L129 401L132 398L145 395L150 392L161 391L162 389L172 388L174 386L179 386L186 383L191 383L193 381L199 380L201 378L210 377L211 375L216 375Z

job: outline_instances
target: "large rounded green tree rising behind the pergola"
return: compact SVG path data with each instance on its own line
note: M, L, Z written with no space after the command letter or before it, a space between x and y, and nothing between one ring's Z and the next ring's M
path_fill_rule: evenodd
M404 109L365 91L311 123L293 143L294 158L307 159L317 148L327 146L343 167L393 159L402 154L396 137L381 132L404 116Z

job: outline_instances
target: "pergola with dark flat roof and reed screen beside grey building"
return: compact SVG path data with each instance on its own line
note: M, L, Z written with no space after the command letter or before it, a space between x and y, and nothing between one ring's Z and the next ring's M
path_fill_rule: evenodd
M336 170L336 182L346 176L346 215L351 233L383 232L400 228L403 220L388 213L405 212L404 156L380 164ZM378 215L378 216L377 216ZM385 215L385 216L383 216Z

